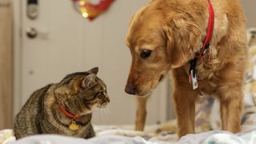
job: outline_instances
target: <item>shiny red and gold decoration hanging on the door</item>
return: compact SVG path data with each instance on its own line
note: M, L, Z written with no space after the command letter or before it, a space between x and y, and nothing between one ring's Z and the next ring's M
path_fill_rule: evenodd
M99 14L104 13L114 0L72 0L74 7L82 17L89 18L91 21L98 17Z

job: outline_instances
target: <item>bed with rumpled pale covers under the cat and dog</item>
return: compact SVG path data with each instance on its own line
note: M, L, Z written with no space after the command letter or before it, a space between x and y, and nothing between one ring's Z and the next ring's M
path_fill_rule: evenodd
M97 128L102 126L96 126ZM106 126L103 126L106 129ZM104 134L98 133L97 137L90 139L83 138L71 138L62 135L55 134L41 134L34 135L26 138L19 139L15 141L12 135L12 130L4 130L5 134L0 132L0 137L2 144L70 144L70 143L84 143L84 144L106 144L106 143L116 143L116 144L196 144L196 143L222 143L222 144L254 144L256 143L256 130L250 132L244 132L240 134L231 134L228 131L222 130L211 130L198 134L187 134L178 140L176 134L159 134L152 136L146 134L147 132L138 132L133 130L125 130L117 128L104 131ZM5 136L3 136L5 135ZM137 135L137 136L135 136Z

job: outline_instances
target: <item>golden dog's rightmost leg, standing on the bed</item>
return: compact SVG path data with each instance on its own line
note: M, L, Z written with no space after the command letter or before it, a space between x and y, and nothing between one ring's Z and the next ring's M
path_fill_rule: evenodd
M241 130L242 90L228 86L220 96L222 130L238 133Z

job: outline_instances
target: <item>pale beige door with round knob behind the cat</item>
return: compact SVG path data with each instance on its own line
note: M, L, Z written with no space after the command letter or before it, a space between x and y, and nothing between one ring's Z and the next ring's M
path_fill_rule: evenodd
M117 0L90 22L74 10L70 0L38 0L38 18L30 19L27 0L22 0L21 78L15 114L34 90L59 82L66 74L98 66L111 102L106 114L94 112L93 123L134 124L136 101L124 92L131 61L125 38L131 15L146 2ZM28 37L28 30L37 30L38 35ZM166 120L166 93L165 83L155 90L148 103L147 123Z

